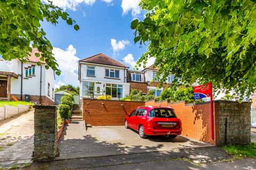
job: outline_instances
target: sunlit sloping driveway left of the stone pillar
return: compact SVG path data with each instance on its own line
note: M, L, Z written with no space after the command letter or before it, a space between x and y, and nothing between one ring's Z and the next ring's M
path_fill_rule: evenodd
M32 163L34 111L0 121L0 167Z

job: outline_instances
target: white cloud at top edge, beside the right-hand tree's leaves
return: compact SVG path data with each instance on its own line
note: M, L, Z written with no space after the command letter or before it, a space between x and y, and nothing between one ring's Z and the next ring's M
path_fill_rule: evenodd
M122 0L123 15L131 11L133 18L136 18L141 12L139 3L140 0Z

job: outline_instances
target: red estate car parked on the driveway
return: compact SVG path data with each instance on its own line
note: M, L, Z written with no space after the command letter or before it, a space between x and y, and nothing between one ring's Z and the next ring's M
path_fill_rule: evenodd
M140 106L125 117L125 128L138 131L141 138L147 135L175 138L182 131L181 121L171 107Z

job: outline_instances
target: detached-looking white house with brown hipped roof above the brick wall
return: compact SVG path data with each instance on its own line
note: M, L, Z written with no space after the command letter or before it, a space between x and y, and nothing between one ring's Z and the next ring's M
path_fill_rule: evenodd
M80 60L80 99L101 95L110 95L112 99L129 96L128 69L128 66L102 53Z

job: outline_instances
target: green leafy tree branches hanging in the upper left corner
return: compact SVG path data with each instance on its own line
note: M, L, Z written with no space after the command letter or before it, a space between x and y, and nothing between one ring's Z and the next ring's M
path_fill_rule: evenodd
M69 25L74 24L75 30L79 29L68 13L50 1L45 4L40 0L0 0L0 55L7 61L15 58L26 61L32 47L36 47L41 55L35 55L46 62L45 68L51 67L60 75L58 64L52 55L53 47L41 27L43 21L56 25L59 18ZM37 64L40 65L41 62Z

